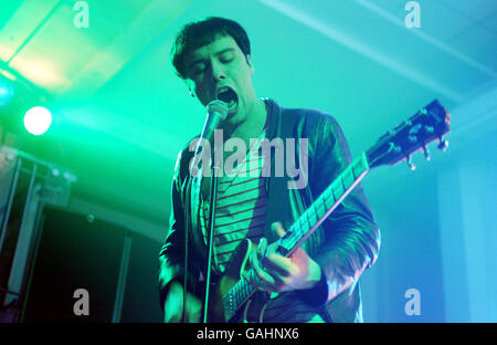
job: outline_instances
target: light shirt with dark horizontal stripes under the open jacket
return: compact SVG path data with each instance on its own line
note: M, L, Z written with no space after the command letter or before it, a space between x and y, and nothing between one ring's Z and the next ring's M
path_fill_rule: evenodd
M250 148L245 159L218 180L214 219L214 264L224 272L237 245L245 239L255 243L264 236L267 209L265 177L262 176L265 132ZM207 243L209 201L201 197L200 228ZM305 304L295 292L281 294L264 311L264 322L324 322L316 310Z

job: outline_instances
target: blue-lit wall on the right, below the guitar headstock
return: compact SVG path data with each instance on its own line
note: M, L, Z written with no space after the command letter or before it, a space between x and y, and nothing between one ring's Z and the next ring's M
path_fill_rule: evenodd
M366 321L497 321L496 93L450 109L451 145L430 164L417 157L415 171L401 165L366 178L382 230L380 258L362 278ZM411 288L421 315L405 314Z

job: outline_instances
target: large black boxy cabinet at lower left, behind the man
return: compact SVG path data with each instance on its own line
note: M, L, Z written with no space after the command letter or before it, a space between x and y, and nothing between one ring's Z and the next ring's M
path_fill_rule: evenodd
M21 322L160 322L159 248L110 222L45 208Z

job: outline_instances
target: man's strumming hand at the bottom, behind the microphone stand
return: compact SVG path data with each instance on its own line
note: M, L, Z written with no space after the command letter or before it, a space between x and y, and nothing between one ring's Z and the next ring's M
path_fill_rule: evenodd
M163 305L163 322L182 322L183 316L183 286L172 281L169 283L166 302ZM187 292L187 307L184 321L188 323L198 323L202 316L202 302L191 293Z

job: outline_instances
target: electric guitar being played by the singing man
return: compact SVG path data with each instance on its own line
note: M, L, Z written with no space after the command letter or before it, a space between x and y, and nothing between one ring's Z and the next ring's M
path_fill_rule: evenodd
M300 244L319 227L336 209L357 184L372 168L382 165L395 165L405 160L411 169L414 165L411 155L423 150L427 160L427 144L438 139L438 148L445 150L448 142L443 136L450 132L451 115L438 103L433 101L400 125L380 137L369 150L360 155L349 165L313 205L294 222L286 234L277 241L278 252L290 257ZM254 289L243 278L248 271L248 258L256 245L244 240L234 252L223 276L215 286L209 303L210 322L248 321L263 322L264 307L268 294Z

